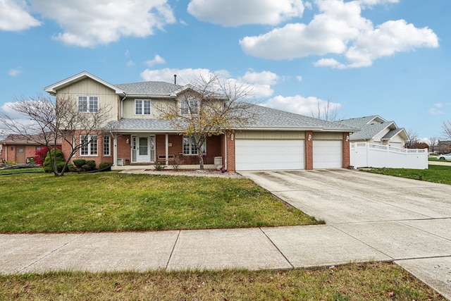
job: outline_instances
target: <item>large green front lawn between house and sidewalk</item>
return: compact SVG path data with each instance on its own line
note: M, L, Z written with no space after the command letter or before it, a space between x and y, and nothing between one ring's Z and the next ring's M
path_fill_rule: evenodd
M23 173L0 176L0 187L0 233L319 223L244 178Z

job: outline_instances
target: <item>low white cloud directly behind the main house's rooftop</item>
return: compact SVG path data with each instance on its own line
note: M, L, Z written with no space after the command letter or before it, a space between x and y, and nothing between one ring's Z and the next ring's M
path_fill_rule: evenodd
M227 70L209 70L204 68L187 68L187 69L171 69L163 68L159 70L144 70L140 75L143 80L146 81L163 81L163 82L173 82L174 75L177 75L178 85L187 85L193 80L202 76L204 78L209 78L214 75L221 75L224 79L230 82L238 82L245 85L249 85L252 88L252 96L254 97L270 97L274 90L271 88L272 85L276 85L279 77L275 73L269 71L254 72L247 71L245 75L240 78L231 78Z

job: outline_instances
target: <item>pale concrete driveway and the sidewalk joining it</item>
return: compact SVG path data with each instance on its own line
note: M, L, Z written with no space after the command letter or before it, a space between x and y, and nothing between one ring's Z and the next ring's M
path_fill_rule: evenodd
M328 224L0 235L0 274L294 269L395 261L451 300L450 186L345 170L245 176Z

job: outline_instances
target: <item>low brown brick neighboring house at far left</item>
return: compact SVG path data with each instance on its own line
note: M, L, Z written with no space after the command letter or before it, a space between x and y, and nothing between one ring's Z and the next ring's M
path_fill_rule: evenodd
M27 158L35 156L36 151L44 147L42 135L8 135L5 140L0 141L1 155L4 161L15 161L18 164L25 164ZM56 146L61 146L61 140L56 142Z

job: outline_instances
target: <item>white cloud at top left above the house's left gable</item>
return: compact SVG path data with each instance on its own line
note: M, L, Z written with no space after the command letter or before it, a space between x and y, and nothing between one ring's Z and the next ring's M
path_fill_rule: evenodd
M54 39L79 47L147 37L175 23L167 0L30 0L35 11L55 20L63 32Z

